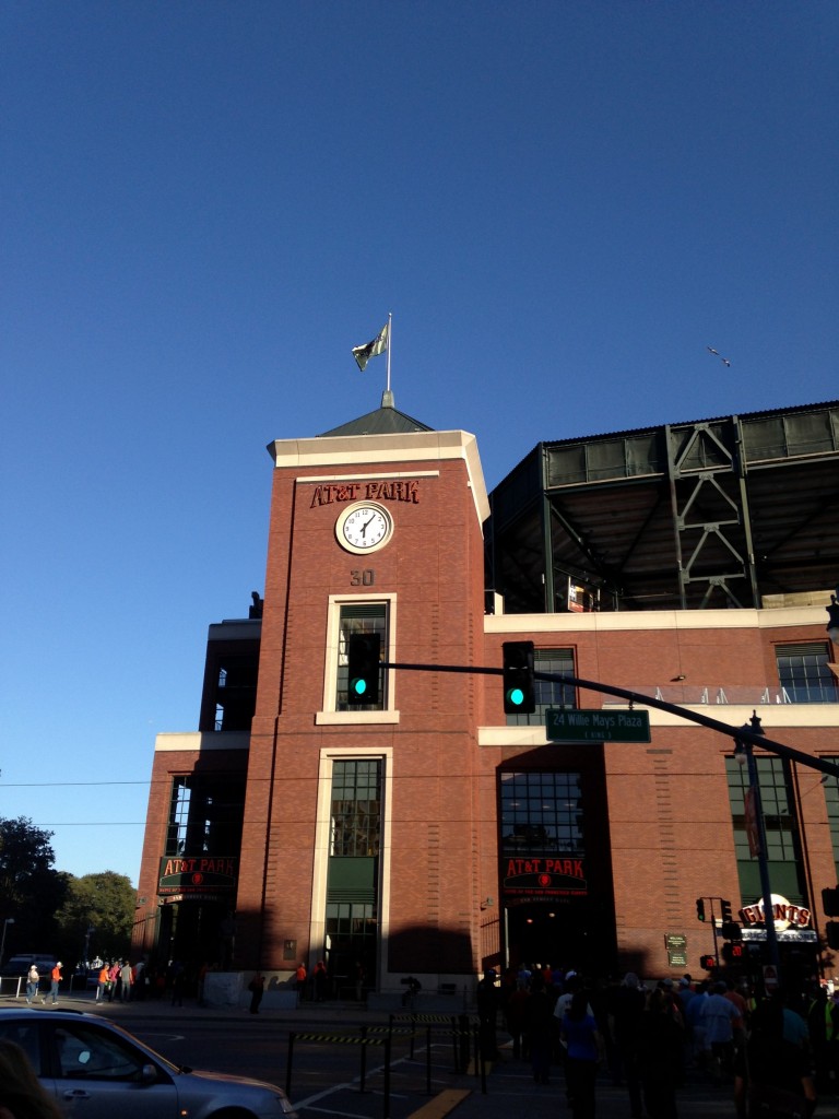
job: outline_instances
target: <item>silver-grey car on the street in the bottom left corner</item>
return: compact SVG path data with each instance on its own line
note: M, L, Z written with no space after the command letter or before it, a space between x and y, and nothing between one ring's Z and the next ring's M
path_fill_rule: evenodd
M281 1088L179 1068L92 1014L0 1008L0 1037L17 1042L58 1104L85 1119L298 1119Z

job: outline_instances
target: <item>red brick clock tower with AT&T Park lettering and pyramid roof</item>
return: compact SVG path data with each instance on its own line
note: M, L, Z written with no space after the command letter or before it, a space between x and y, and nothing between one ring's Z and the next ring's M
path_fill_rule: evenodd
M237 957L279 970L322 958L348 986L471 978L497 881L483 677L383 669L379 702L350 707L347 646L377 632L390 662L482 662L475 439L431 431L386 393L360 420L268 450Z

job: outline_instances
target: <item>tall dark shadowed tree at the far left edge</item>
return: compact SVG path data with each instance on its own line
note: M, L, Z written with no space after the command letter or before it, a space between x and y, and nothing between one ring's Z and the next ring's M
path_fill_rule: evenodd
M54 914L64 902L67 876L53 869L51 838L51 831L35 827L25 816L0 817L0 918L15 918L7 956L54 946Z

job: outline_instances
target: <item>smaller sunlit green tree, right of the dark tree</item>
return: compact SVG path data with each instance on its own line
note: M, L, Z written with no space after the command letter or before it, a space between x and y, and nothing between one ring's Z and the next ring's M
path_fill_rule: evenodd
M69 876L67 896L56 913L70 959L113 960L129 955L134 922L131 878L114 871Z

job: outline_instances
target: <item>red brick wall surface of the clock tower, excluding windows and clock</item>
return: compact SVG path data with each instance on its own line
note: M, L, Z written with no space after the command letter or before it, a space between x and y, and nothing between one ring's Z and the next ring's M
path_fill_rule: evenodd
M398 463L402 477L417 472L420 500L387 502L394 537L370 556L339 547L340 504L312 506L312 485L294 481L303 471L275 471L242 853L243 958L277 966L286 939L298 942L301 958L321 950L309 944L319 752L341 745L394 751L392 968L421 970L422 951L437 970L446 962L451 970L477 966L480 679L399 673L397 725L315 726L313 720L322 706L328 599L352 593L353 570L375 570L375 585L360 592L397 595L398 661L469 665L482 649L482 540L465 464L432 467L439 477L422 477L427 462ZM441 959L441 946L458 958Z

